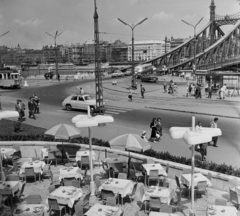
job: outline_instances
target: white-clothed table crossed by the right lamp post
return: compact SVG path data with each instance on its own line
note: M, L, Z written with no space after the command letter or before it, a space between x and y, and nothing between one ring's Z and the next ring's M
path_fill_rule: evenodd
M192 179L191 173L183 174L181 176L182 184L186 184L189 188L191 187L191 179ZM193 186L196 187L199 181L206 181L208 187L212 186L211 181L207 177L205 177L202 173L194 173L194 185Z

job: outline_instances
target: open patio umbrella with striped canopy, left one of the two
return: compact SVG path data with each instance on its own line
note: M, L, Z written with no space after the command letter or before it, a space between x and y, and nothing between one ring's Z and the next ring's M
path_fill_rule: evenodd
M45 136L52 137L54 139L69 140L80 137L80 130L68 124L56 125L44 133ZM62 142L63 145L63 142ZM62 162L63 162L63 148L62 148Z

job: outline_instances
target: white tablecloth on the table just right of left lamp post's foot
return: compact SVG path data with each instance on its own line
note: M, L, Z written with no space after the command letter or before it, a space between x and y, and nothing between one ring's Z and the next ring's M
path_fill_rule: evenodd
M107 180L104 184L99 187L99 190L109 190L115 194L120 194L122 197L125 197L128 193L131 193L133 190L133 182L127 179L116 179Z

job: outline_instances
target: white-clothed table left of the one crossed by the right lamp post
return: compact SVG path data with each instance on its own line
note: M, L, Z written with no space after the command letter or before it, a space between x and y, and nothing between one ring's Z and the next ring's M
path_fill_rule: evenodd
M161 203L169 204L172 198L175 196L175 191L172 188L164 188L158 186L151 186L144 193L142 197L142 202L150 200L151 197L159 197Z

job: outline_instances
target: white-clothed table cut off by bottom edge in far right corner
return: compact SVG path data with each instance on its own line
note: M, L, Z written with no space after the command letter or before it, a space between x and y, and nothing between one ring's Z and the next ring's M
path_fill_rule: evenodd
M215 212L215 214L214 214ZM234 206L220 206L212 205L206 210L206 215L216 215L216 216L237 216L237 209Z

